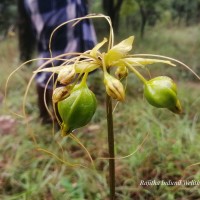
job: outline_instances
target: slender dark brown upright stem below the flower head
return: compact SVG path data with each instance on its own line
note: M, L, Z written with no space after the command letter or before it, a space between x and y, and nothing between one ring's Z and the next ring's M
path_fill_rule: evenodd
M107 128L108 128L108 150L109 150L109 184L110 184L110 200L115 199L115 152L114 152L114 132L113 132L113 109L112 99L107 95L106 97L107 110Z

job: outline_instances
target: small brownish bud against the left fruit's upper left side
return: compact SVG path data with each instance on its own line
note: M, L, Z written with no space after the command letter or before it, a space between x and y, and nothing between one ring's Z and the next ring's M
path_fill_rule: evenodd
M58 87L53 91L52 100L54 103L65 99L67 96L70 95L70 87L69 86L62 86Z

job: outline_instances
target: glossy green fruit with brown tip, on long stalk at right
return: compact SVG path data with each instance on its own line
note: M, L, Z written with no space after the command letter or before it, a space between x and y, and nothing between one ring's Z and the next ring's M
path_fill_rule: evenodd
M144 96L147 101L157 108L167 108L174 113L182 112L177 98L177 88L174 81L166 76L158 76L146 82Z

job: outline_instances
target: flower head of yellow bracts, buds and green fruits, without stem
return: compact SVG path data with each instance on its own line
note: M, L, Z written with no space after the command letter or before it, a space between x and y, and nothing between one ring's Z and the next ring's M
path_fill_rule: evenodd
M107 94L118 101L125 100L125 90L121 82L129 73L134 73L144 85L147 101L158 108L167 108L174 113L181 113L177 88L173 80L166 76L146 80L137 68L144 68L153 63L174 66L169 60L137 57L132 50L134 37L130 36L117 45L108 45L107 52L100 49L108 42L106 38L92 50L78 54L66 60L62 66L40 69L57 73L57 81L62 87L55 88L53 102L57 103L62 118L62 129L70 133L86 125L96 110L96 98L87 87L87 76L97 69L103 72L103 83ZM113 73L110 73L113 72ZM80 83L79 83L80 82Z

